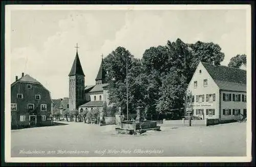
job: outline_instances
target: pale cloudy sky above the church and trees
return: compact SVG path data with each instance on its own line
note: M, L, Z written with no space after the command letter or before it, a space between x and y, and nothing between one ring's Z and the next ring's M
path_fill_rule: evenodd
M69 97L69 72L78 54L86 85L94 85L103 57L118 46L142 58L151 46L180 38L219 44L227 65L246 53L246 10L13 10L11 82L22 72L53 99Z

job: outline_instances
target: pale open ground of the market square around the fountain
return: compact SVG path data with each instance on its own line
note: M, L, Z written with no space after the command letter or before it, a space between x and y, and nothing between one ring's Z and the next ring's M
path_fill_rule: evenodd
M116 134L115 125L59 123L67 125L11 130L11 156L246 156L245 122L137 135Z

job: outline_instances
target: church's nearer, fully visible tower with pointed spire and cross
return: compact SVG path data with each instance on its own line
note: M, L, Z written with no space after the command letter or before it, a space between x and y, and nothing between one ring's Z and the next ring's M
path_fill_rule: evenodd
M78 109L78 106L84 103L84 76L76 50L76 57L69 73L69 110Z

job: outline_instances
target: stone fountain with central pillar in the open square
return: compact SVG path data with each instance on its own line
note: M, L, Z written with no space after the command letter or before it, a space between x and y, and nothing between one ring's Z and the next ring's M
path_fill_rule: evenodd
M137 134L144 133L147 130L160 131L160 126L157 126L156 121L145 121L141 117L141 106L136 107L137 117L135 121L122 121L120 127L116 128L118 134Z

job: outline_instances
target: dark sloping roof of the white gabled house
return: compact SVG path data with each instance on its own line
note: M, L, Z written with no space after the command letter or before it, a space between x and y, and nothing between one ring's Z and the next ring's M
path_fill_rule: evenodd
M202 64L220 89L246 92L245 70L203 62Z

